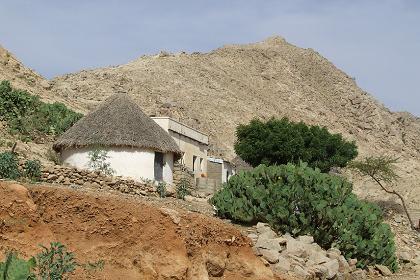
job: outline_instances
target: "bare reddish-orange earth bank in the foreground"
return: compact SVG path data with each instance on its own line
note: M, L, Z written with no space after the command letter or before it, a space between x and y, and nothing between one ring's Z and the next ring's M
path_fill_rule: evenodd
M60 241L81 261L105 261L98 274L72 279L278 279L233 226L165 211L112 195L41 186L28 193L0 183L0 252L27 257L38 244Z

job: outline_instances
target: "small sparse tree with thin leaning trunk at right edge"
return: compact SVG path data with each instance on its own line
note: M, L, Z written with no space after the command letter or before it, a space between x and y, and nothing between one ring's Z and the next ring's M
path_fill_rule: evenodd
M396 195L400 200L401 204L404 208L405 214L407 215L408 220L410 221L410 225L412 229L419 230L417 228L408 212L407 205L404 201L404 198L401 194L396 192L394 189L388 189L385 187L384 184L393 184L395 183L399 176L395 173L395 166L394 164L398 161L398 159L390 157L390 156L379 156L379 157L366 157L360 161L353 161L349 164L351 169L358 171L363 176L370 177L373 181L375 181L382 190L389 194Z

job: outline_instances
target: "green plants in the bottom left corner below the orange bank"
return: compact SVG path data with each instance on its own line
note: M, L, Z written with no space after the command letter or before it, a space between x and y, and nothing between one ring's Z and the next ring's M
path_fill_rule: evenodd
M104 262L78 263L74 253L67 251L60 242L52 242L50 247L41 246L42 252L29 260L18 257L17 252L8 252L4 262L0 262L1 280L46 280L68 279L70 273L81 267L89 272L103 269Z

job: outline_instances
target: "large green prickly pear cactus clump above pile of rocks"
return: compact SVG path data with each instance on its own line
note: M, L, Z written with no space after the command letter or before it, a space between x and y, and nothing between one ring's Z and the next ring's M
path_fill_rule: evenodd
M224 218L268 222L294 236L310 234L323 248L357 258L358 267L378 263L397 270L393 234L381 210L360 201L344 178L306 164L261 165L232 176L211 203Z

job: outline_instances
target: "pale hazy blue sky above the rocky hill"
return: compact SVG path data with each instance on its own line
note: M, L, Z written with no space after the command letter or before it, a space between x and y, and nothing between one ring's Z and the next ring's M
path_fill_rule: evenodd
M0 44L46 78L273 35L420 116L419 0L0 0Z

